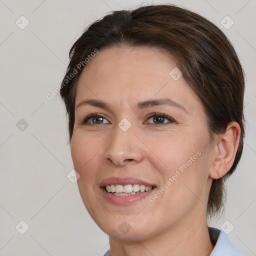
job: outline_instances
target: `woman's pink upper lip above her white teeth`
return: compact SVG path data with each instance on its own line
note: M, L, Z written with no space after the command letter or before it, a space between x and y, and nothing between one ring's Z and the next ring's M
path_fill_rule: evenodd
M145 186L155 186L155 184L143 181L138 178L134 177L109 177L103 179L100 183L99 186L106 186L106 185L128 185L128 184L138 184L138 185L145 185Z

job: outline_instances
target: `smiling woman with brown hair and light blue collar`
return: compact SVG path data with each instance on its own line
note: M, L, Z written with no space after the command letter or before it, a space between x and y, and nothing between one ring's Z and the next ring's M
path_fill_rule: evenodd
M95 21L69 55L71 156L105 255L241 255L207 226L244 137L243 71L220 29L143 6Z

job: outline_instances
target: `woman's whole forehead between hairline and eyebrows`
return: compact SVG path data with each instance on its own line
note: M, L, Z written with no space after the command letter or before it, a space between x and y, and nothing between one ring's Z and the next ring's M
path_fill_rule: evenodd
M178 70L174 58L157 48L118 46L99 50L80 74L75 104L94 98L134 105L143 99L169 96L189 107L197 98L182 76L173 79L173 69Z

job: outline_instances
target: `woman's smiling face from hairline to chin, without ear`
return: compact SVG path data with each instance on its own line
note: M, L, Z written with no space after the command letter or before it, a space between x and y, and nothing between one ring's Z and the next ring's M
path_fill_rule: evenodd
M206 216L212 143L202 104L179 76L158 49L119 46L99 50L79 77L71 140L78 188L93 220L116 238L144 239Z

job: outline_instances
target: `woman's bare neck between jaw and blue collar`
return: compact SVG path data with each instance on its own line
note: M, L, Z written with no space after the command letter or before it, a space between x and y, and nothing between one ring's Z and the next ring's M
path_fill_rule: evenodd
M193 219L193 221L191 221ZM109 237L111 256L209 256L212 244L205 216L191 216L147 239L125 241Z

